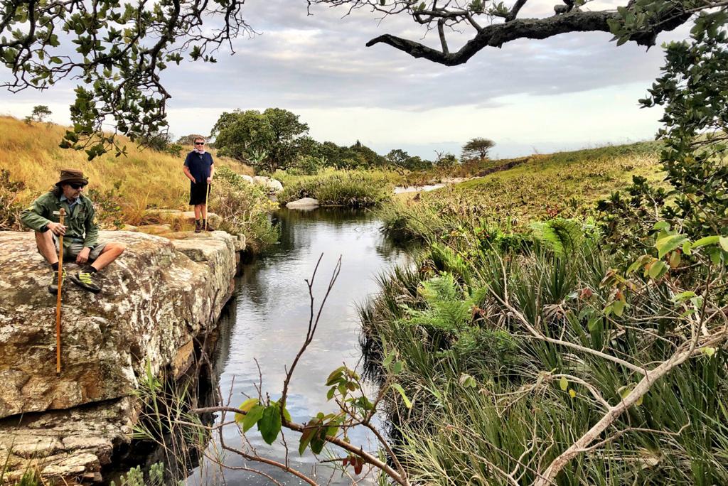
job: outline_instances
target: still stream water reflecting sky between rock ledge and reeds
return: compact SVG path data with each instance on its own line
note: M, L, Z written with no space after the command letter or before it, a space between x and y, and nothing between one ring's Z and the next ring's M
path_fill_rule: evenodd
M361 361L359 346L360 322L357 303L376 292L375 277L392 266L406 263L408 255L393 246L380 232L381 223L371 212L320 208L311 212L283 210L277 213L281 228L280 244L253 263L245 266L237 281L232 302L234 319L230 330L223 330L218 345L218 373L223 397L232 391L231 405L237 406L246 396L257 397L258 367L263 377L264 394L278 399L290 365L306 333L309 319L309 295L304 279L310 278L319 256L323 259L314 281L317 302L323 298L336 260L341 255L341 274L329 295L316 337L296 367L288 397L288 411L294 421L306 422L319 411L333 411L326 402L326 377L342 362L355 367ZM373 388L370 386L370 396ZM217 418L219 420L219 417ZM228 416L227 420L231 417ZM266 445L256 429L248 439L258 454L285 461L285 448ZM352 442L373 444L363 432L351 434ZM296 469L312 474L316 460L306 451L298 455L298 434L286 434L290 463ZM226 429L225 442L241 447L241 437L234 426ZM216 455L218 440L207 448ZM365 447L367 448L367 447ZM376 447L372 447L373 449ZM304 484L290 474L260 463L245 463L226 453L227 466L250 466L266 471L285 485ZM331 469L317 466L316 479L327 484ZM189 484L194 485L266 485L270 482L246 471L221 471L210 461L194 471ZM351 480L333 475L332 485L350 485Z

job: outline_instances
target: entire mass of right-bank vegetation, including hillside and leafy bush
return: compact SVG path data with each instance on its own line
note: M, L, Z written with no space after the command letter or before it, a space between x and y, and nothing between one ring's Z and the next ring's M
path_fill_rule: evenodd
M569 154L392 212L428 252L361 316L374 370L404 363L413 484L728 483L726 20L668 44L640 100L664 107L662 174Z

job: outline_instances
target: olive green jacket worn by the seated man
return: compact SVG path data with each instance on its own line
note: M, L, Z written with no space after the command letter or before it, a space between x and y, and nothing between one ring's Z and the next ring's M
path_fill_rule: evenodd
M68 209L68 201L61 201L52 192L43 194L33 201L29 207L20 212L20 220L25 226L33 231L48 231L47 224L50 222L60 223L60 208L66 210L66 217L63 224L66 226L66 234L63 235L63 246L72 242L82 241L84 247L93 248L98 244L98 225L95 220L93 204L83 194L79 196L79 202L74 206L73 212Z

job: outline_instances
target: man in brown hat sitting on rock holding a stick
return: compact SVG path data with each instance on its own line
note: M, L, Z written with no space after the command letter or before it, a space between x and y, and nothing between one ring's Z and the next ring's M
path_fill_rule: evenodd
M89 181L80 170L63 169L52 191L33 201L20 213L25 226L36 232L38 251L53 268L48 290L58 292L58 236L63 235L63 257L76 258L81 270L71 276L74 284L89 292L98 293L101 286L95 281L96 272L124 252L126 245L118 242L98 242L98 226L94 207L82 193ZM60 224L60 208L66 210L66 220ZM93 263L90 263L93 262ZM66 271L63 271L65 277Z

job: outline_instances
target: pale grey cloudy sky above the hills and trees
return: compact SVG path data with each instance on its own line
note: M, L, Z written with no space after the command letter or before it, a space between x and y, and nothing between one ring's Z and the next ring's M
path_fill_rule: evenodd
M531 0L520 16L548 15L554 3ZM244 11L260 35L237 39L235 55L164 72L173 134L207 133L222 111L276 106L299 114L317 140L360 140L381 154L403 148L432 159L435 150L459 154L472 137L495 140L495 156L517 156L645 140L659 126L657 108L637 105L660 71L659 47L645 52L617 48L606 33L566 34L488 48L448 68L382 44L365 47L381 33L421 38L407 17L379 23L370 12L342 18L343 9L325 7L306 15L304 0L248 0ZM686 35L683 28L659 41ZM451 50L464 39L451 36ZM0 113L22 117L45 104L54 122L68 123L72 89L3 93Z

